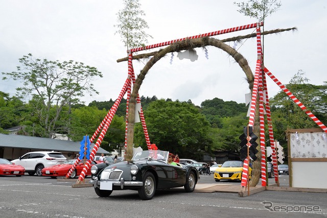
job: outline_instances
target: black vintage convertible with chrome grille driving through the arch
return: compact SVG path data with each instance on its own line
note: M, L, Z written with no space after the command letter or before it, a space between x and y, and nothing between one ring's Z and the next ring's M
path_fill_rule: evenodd
M95 191L100 197L108 197L113 190L137 190L143 200L153 198L156 190L184 186L192 192L200 179L193 165L171 165L167 163L169 152L137 152L131 161L122 161L91 167Z

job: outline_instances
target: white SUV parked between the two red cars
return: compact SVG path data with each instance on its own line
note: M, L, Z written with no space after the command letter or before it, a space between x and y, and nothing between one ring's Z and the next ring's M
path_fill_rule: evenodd
M29 152L19 159L12 160L11 162L17 165L22 165L25 172L33 176L42 176L42 169L44 167L57 165L67 160L60 152Z

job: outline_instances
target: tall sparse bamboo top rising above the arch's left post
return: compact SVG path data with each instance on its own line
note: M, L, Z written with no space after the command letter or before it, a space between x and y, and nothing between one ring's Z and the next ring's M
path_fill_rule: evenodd
M121 36L122 42L127 47L127 50L135 47L145 46L148 42L147 38L151 35L147 34L144 29L148 29L148 23L140 16L145 16L141 10L141 4L138 0L124 0L124 9L120 10L118 16L118 25L113 27L118 28L115 32Z

